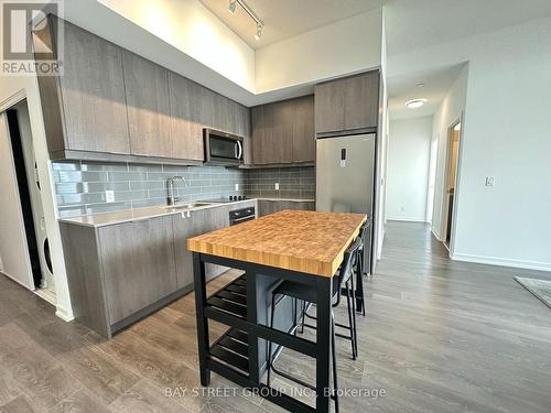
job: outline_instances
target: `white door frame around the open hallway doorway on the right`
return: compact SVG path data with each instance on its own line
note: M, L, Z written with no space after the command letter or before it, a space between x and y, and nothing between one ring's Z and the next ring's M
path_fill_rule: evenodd
M465 130L464 122L464 112L462 111L461 116L455 119L446 132L446 156L445 156L445 170L444 170L444 185L442 185L442 227L441 233L442 243L449 251L450 258L453 257L455 251L455 232L457 228L457 206L460 200L460 184L461 184L461 167L462 167L462 153L463 153L463 135ZM457 144L457 164L455 165L455 184L454 184L454 200L453 200L453 211L452 211L452 226L450 228L450 244L445 244L446 231L447 231L447 217L449 217L449 196L447 196L447 180L450 177L450 155L452 150L452 140L453 140L453 129L461 123L460 129L460 141Z

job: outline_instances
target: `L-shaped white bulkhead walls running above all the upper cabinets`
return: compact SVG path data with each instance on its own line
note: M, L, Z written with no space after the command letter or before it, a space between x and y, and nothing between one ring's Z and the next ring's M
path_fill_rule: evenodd
M382 8L257 51L199 0L71 0L64 17L246 106L381 64Z

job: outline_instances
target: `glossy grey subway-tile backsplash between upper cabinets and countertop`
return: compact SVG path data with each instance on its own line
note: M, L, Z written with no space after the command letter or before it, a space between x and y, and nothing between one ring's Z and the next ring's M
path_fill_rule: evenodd
M313 167L237 170L223 166L176 166L88 161L52 162L60 217L93 215L115 210L165 205L168 178L175 182L182 200L212 199L227 195L249 197L313 198ZM279 183L279 191L276 191ZM235 189L238 184L238 191ZM106 202L112 191L115 202Z

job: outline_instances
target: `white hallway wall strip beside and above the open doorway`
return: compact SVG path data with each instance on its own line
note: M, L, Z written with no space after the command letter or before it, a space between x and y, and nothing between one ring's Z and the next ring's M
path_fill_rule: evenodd
M432 124L432 140L436 141L436 175L434 181L434 206L432 214L432 230L437 239L444 237L445 216L443 214L445 178L446 178L446 155L447 155L447 132L449 128L457 119L461 119L465 110L467 93L468 66L465 65L460 76L446 93L442 104L434 113Z

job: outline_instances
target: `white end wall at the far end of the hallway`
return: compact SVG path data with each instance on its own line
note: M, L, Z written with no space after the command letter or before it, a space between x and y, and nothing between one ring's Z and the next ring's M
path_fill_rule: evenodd
M388 219L425 221L432 117L391 120L388 149Z

